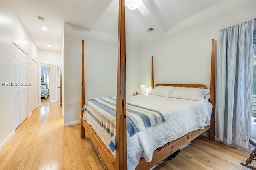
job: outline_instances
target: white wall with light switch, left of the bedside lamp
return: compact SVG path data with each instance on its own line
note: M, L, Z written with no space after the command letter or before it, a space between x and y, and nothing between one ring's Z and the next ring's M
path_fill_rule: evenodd
M118 46L117 38L114 42L108 42L88 39L83 35L74 36L70 29L66 29L66 23L64 32L64 125L72 125L80 123L82 40L86 100L93 97L116 97ZM126 91L127 95L132 95L138 90L138 47L127 46L126 54ZM69 85L70 80L74 80L75 85Z

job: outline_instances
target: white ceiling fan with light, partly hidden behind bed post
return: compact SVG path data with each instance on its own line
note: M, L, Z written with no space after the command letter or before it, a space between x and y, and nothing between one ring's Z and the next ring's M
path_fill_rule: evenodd
M125 1L125 6L129 10L136 10L138 8L138 10L142 14L142 16L144 16L144 18L147 18L151 15L148 8L142 2L142 0L126 0ZM108 15L109 16L115 16L117 13L118 13L118 5Z

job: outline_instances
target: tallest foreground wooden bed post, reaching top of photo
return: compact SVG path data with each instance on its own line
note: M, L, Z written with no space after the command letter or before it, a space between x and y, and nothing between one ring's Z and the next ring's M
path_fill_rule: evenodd
M127 169L125 1L119 0L116 93L116 169Z

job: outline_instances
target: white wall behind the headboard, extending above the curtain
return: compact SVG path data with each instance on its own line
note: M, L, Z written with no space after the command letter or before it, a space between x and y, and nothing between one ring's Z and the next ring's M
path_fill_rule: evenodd
M150 57L153 55L154 83L196 83L210 88L211 39L216 40L218 50L219 30L256 18L255 3L219 2L181 22L167 35L141 43L140 84L150 85Z

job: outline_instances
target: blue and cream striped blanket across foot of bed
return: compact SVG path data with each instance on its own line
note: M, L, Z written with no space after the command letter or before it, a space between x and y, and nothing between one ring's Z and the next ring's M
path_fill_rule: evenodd
M112 140L108 146L114 152L116 149L114 135L116 132L116 99L112 97L90 99L82 110L110 134ZM166 121L159 111L131 103L126 103L126 115L127 139L137 132Z

